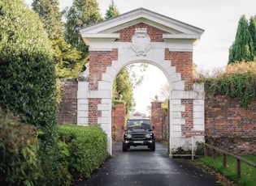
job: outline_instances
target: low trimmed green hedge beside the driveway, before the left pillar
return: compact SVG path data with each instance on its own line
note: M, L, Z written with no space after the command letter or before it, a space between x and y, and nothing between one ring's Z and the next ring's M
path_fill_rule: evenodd
M108 158L106 133L99 127L78 125L59 125L59 163L62 167L62 179L70 181L90 177Z

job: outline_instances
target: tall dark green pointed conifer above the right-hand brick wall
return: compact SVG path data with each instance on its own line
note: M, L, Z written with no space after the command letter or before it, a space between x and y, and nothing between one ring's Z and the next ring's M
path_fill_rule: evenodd
M228 64L235 61L253 61L254 44L249 32L249 24L245 15L239 20L236 40L229 49Z

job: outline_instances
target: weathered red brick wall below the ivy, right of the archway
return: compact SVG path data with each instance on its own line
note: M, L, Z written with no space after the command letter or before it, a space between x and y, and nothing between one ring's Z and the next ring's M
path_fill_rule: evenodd
M256 154L256 99L241 108L239 99L223 95L205 100L206 142L233 154Z

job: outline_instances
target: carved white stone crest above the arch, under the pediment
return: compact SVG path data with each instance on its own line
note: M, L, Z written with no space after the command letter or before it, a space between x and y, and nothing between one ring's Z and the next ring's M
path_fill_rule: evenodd
M146 53L151 48L150 40L145 27L135 28L132 36L132 50L137 53L137 56L146 56Z

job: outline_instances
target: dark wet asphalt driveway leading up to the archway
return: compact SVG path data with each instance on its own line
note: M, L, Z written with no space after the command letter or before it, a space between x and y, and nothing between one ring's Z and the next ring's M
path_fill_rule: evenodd
M121 142L113 145L114 157L108 159L92 178L75 184L76 186L183 186L183 185L221 185L215 177L206 174L186 163L170 159L167 146L156 143L154 152L145 146L131 146L122 151Z

